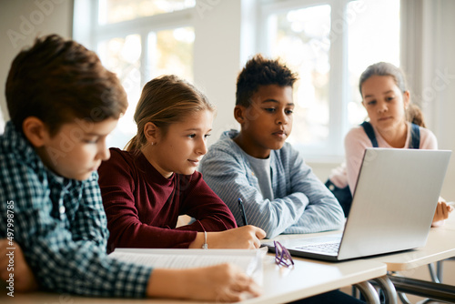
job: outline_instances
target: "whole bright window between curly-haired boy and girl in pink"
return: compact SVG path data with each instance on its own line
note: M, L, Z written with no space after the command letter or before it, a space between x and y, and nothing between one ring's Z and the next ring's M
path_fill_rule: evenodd
M264 0L259 50L279 56L299 80L288 141L313 161L344 154L344 136L366 117L359 76L369 65L399 66L399 0Z

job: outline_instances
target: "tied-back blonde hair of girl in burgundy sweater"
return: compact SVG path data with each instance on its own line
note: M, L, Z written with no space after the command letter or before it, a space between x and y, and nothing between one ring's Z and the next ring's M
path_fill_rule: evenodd
M148 122L159 127L163 136L171 124L182 121L188 114L209 110L212 106L202 92L187 81L174 75L159 76L147 82L136 106L137 134L127 144L126 150L138 150L147 144L144 127Z

